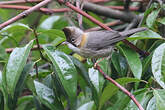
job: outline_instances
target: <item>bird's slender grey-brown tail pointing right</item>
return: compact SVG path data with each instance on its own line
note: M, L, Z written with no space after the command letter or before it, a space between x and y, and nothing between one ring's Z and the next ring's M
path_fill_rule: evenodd
M131 29L131 30L127 30L127 31L123 31L123 32L120 32L120 34L123 36L123 37L126 37L126 36L130 36L136 32L140 32L140 31L145 31L147 30L147 28L145 27L141 27L141 28L136 28L136 29Z

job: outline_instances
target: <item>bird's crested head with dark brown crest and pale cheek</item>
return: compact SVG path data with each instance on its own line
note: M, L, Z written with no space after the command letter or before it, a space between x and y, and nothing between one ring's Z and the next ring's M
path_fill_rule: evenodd
M81 43L83 31L75 26L65 27L63 32L68 42L75 46L79 46Z

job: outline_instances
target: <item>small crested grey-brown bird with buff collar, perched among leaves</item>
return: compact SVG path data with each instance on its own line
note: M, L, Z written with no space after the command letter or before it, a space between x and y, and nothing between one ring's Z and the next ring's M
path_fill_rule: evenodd
M107 57L114 50L116 43L146 29L142 27L123 32L109 30L84 32L78 27L69 26L63 29L67 40L63 44L67 44L73 52L85 58Z

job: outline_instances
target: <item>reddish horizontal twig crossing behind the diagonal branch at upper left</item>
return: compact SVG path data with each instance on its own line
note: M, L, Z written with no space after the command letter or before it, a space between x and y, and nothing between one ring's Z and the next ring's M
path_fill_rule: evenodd
M28 9L30 9L32 7L30 7L30 6L19 6L19 5L0 5L0 8L28 10ZM52 14L52 13L68 12L70 10L68 8L61 8L61 9L39 8L36 11L40 11L40 12L43 12L45 14Z

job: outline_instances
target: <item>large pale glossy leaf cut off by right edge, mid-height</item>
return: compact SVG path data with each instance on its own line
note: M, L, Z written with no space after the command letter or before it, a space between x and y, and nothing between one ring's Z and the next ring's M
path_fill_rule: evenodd
M165 43L155 49L151 62L154 78L165 88Z

